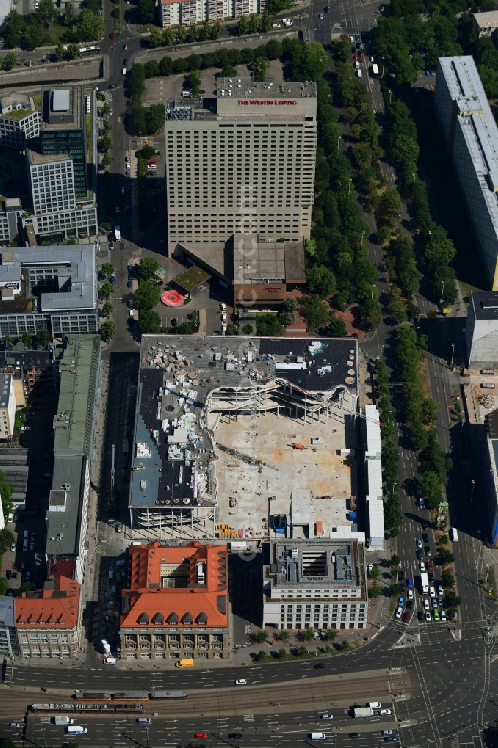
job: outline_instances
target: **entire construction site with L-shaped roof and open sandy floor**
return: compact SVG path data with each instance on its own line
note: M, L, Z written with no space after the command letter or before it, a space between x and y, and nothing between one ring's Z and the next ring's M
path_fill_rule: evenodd
M133 535L357 533L357 390L355 340L145 335Z

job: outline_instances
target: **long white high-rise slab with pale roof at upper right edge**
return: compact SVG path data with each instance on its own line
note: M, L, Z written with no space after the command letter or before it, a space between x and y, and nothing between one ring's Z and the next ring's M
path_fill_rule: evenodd
M440 58L435 103L488 283L498 289L498 132L472 57Z

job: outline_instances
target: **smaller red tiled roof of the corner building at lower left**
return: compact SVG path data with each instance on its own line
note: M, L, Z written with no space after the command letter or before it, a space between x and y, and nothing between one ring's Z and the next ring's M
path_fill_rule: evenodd
M16 598L16 628L76 628L81 587L68 577L55 577L54 586L22 592Z

